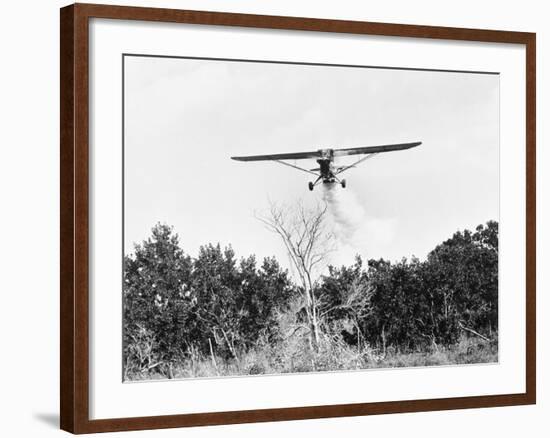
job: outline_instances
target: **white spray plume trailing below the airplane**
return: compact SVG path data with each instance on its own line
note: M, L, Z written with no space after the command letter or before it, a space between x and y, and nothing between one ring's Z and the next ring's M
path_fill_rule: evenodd
M322 184L323 200L333 221L337 241L335 264L349 264L359 254L378 258L394 238L394 219L379 219L367 214L355 193L339 184Z

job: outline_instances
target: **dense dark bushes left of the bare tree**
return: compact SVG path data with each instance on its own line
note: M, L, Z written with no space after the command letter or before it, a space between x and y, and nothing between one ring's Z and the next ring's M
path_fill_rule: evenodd
M124 283L126 363L140 370L196 351L236 357L260 336L275 341L276 311L294 290L275 259L259 268L253 256L237 263L219 245L191 259L166 225L125 258Z

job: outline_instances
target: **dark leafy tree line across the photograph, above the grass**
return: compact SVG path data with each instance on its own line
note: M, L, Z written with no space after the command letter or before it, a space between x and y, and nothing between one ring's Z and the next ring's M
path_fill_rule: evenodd
M322 253L309 247L315 262ZM237 258L219 244L191 257L172 227L155 225L124 260L126 370L167 369L196 354L237 359L260 344L276 347L304 333L312 350L319 338L338 337L383 352L498 333L495 221L456 232L424 261L357 256L351 266L329 266L317 278L308 270L298 274L295 282L275 258ZM293 326L282 323L285 315Z

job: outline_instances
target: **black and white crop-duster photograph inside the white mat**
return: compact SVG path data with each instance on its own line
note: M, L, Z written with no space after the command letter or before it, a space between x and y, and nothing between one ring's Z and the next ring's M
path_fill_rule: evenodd
M122 62L125 382L498 363L498 73Z

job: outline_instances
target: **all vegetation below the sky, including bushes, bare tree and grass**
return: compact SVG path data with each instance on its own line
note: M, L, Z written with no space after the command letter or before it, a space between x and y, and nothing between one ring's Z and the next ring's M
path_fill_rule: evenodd
M125 257L125 379L497 360L496 222L456 232L425 261L357 257L316 276L330 250L323 211L279 213L261 219L291 245L297 283L274 258L237 259L219 244L192 258L167 225L136 245Z

